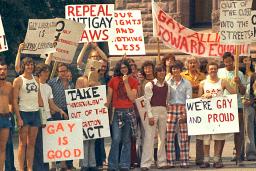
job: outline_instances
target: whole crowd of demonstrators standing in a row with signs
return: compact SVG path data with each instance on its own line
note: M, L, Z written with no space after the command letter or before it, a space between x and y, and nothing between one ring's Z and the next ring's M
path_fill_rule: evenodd
M254 96L256 74L249 56L240 56L236 76L234 56L224 53L222 61L200 61L188 57L185 61L165 54L161 61L145 61L141 68L124 57L114 68L97 50L88 60L98 61L99 68L86 66L79 78L74 78L67 64L58 63L56 76L49 78L51 65L35 63L32 58L21 60L23 44L16 57L18 73L13 83L6 81L7 64L0 60L0 171L15 171L13 142L14 118L18 128L18 163L20 171L62 171L75 169L73 161L43 162L42 129L48 121L68 119L65 90L107 85L111 148L106 157L104 138L84 141L82 171L128 171L140 167L146 171L152 165L158 169L189 168L190 137L188 136L186 100L214 98L238 94L240 132L234 134L234 160L256 160L254 141ZM80 56L84 56L85 46ZM51 55L49 55L49 58ZM88 61L87 60L87 61ZM89 62L87 62L89 63ZM109 74L112 70L113 74ZM236 89L237 87L237 89ZM147 114L140 117L135 99L144 96ZM14 117L15 115L15 117ZM244 140L244 130L247 131ZM213 167L224 167L222 152L230 134L196 136L196 165L209 168L210 144L214 141Z

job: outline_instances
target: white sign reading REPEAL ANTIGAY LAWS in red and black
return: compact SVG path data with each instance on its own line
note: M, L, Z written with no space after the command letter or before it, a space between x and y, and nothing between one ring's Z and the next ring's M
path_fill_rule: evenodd
M65 17L85 24L81 42L108 41L113 28L114 4L66 5Z

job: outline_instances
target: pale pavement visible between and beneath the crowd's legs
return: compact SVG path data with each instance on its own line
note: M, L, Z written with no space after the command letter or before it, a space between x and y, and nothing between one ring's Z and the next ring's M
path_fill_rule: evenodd
M110 144L111 144L111 139L110 138L106 138L105 140L105 149L106 149L106 154L108 156L109 150L110 150ZM176 164L176 167L173 169L168 169L168 170L172 170L172 171L181 171L181 170L218 170L218 171L240 171L240 170L244 170L244 171L256 171L256 161L243 161L241 166L237 166L235 162L231 161L232 157L233 157L233 148L234 148L234 143L232 141L232 137L230 137L224 146L224 150L223 150L223 164L224 164L224 168L221 169L214 169L212 168L208 168L208 169L201 169L198 166L195 165L195 137L191 138L191 142L190 142L190 167L188 169L181 169L179 168L179 163ZM19 170L18 168L18 160L17 160L17 149L18 149L18 138L17 135L14 136L14 157L15 157L15 166L16 169ZM213 156L213 143L211 144L211 156ZM212 161L213 158L211 158ZM78 165L78 160L74 160L74 166L76 168L79 168ZM79 171L80 169L77 169L77 171ZM104 166L104 170L107 170L107 167ZM157 169L156 167L152 167L150 170L152 171L158 171L160 169ZM132 171L140 171L140 168L135 168L132 169Z

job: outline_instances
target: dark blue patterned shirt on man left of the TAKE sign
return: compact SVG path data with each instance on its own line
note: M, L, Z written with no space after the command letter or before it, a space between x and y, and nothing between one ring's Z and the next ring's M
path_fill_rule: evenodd
M67 102L65 97L65 88L59 77L55 77L48 81L48 84L52 88L54 103L62 110L67 110ZM74 88L74 84L69 82L67 89Z

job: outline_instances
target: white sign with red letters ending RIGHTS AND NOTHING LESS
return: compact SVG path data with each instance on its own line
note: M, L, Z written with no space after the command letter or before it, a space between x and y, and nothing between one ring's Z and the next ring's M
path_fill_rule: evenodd
M116 10L115 26L108 41L110 55L145 55L140 10Z

